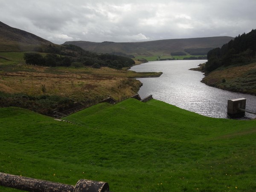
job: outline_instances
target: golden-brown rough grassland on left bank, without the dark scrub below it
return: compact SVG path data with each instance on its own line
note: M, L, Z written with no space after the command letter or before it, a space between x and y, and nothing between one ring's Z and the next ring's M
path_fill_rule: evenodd
M114 70L73 67L40 67L26 65L24 52L0 52L0 91L40 95L42 84L46 94L67 96L75 100L96 96L132 96L141 85L137 76L159 76L160 73L136 73ZM21 86L22 85L22 86Z

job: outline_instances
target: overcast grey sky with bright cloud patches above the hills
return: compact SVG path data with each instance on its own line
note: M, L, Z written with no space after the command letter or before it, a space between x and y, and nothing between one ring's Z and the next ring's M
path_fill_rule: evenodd
M0 21L55 44L236 37L256 29L256 0L0 0Z

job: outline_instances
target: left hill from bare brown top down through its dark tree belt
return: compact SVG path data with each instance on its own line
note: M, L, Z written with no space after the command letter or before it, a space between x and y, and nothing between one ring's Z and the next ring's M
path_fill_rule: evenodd
M3 57L3 52L17 51L38 52L24 53L26 64L47 67L68 67L71 64L76 67L84 67L95 64L94 66L97 68L108 66L122 69L122 67L131 67L131 65L135 64L134 60L122 55L99 55L96 52L86 51L75 45L52 44L50 41L44 40L32 33L15 29L0 22L0 64L1 59L8 61L8 58Z

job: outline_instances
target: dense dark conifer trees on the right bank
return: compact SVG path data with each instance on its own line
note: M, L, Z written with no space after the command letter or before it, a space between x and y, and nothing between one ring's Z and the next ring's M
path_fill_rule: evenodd
M215 48L207 53L205 72L209 73L218 67L227 67L233 64L247 64L256 57L256 29Z

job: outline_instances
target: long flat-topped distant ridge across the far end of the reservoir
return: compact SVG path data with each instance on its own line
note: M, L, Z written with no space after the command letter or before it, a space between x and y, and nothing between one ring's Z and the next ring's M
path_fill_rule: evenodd
M207 37L207 38L186 38L186 39L167 39L157 41L144 41L132 43L116 43L116 42L89 42L89 41L67 41L64 44L74 44L85 50L90 50L98 53L122 52L128 55L170 55L175 52L183 52L188 54L185 49L199 48L215 48L221 47L233 39L232 37ZM209 50L208 50L209 51ZM197 55L206 55L197 54Z

